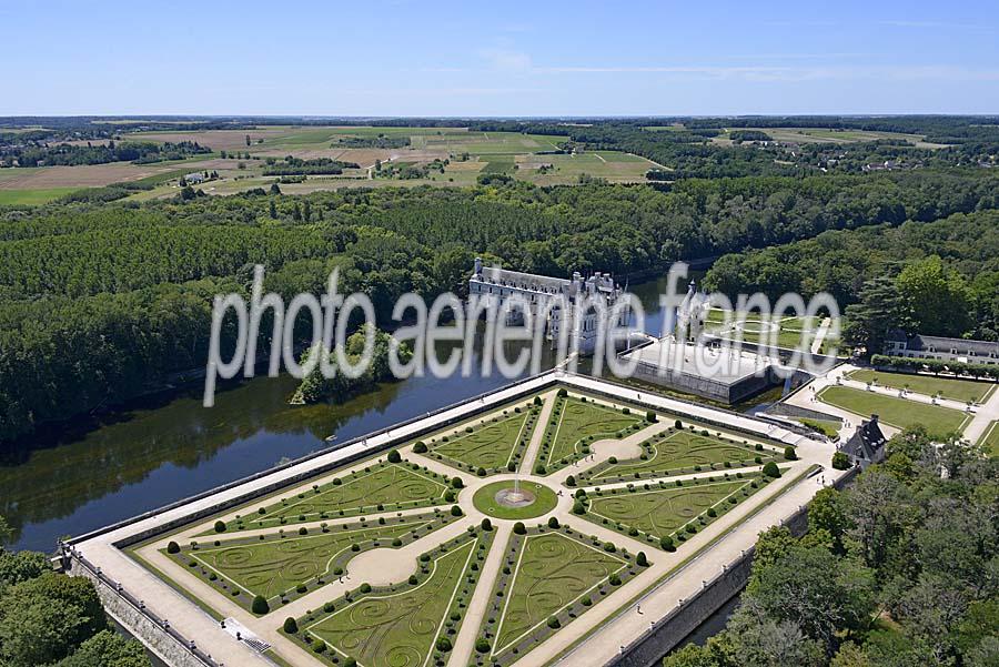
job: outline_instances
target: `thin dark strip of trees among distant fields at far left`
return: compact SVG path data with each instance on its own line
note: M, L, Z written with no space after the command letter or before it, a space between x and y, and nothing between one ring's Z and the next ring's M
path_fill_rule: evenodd
M165 160L183 160L191 155L211 153L212 150L198 142L180 143L120 142L107 144L74 145L12 145L0 146L0 166L79 166L81 164L107 164L109 162L133 162L150 164Z

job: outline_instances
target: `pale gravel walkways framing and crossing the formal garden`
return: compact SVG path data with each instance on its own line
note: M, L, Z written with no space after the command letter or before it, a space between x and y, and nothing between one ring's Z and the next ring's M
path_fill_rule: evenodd
M473 398L461 405L441 411L437 414L373 434L360 442L349 443L336 451L314 456L307 461L293 463L287 467L238 484L231 488L224 488L205 497L183 503L165 512L152 514L134 523L115 527L107 533L84 536L74 546L89 562L100 567L105 575L119 582L125 590L143 599L148 607L158 616L169 619L171 626L180 634L211 654L215 661L230 666L268 665L270 661L266 658L251 650L245 644L235 640L221 629L219 623L205 612L175 592L157 575L127 556L114 544L153 529L167 522L182 519L195 512L210 509L226 501L242 497L248 493L271 487L275 482L293 479L296 475L312 471L317 466L334 464L355 454L374 453L392 445L400 446L425 433L428 428L444 427L447 423L453 423L456 420L461 421L481 411L488 412L492 407L498 408L519 396L542 394L544 406L538 422L539 427L536 428L522 463L523 471L532 471L544 433L543 425L547 420L547 415L551 414L555 400L553 387L555 382L567 385L571 391L575 388L597 394L599 396L597 401L605 405L624 405L624 403L617 403L617 401L639 403L660 411L678 413L715 423L719 426L735 427L750 434L755 433L761 442L766 442L765 438L770 438L780 443L791 444L797 446L799 459L781 464L781 468L785 471L783 477L774 481L746 502L724 514L718 521L712 523L684 543L684 546L675 553L660 552L646 543L635 540L573 515L571 512L573 504L571 493L567 491L563 493L556 509L549 515L537 519L538 522L545 521L547 516L556 516L561 523L583 534L597 535L601 539L613 542L632 553L644 549L649 554L652 566L615 589L587 614L568 624L527 653L517 661L517 665L545 665L553 660L562 660L564 664L574 665L579 664L579 656L583 655L586 656L586 664L593 665L613 659L623 645L638 639L644 633L648 631L650 621L665 616L678 606L682 600L695 596L702 588L703 582L712 579L722 572L724 566L735 563L740 557L741 552L755 544L756 536L760 530L797 513L820 488L823 479L826 484L831 484L837 476L842 474L827 469L823 476L806 478L805 474L813 465L827 466L833 454L833 447L794 432L744 415L667 398L634 388L626 388L592 377L551 372L493 394ZM658 423L648 425L620 441L597 441L592 446L593 456L591 461L579 462L575 466L569 465L546 477L534 477L522 473L521 478L534 479L553 488L561 487L559 485L568 475L605 462L612 455L635 455L639 451L638 444L643 439L667 427L668 424L665 423L665 420L660 420ZM750 441L753 439L751 436L748 437ZM767 445L770 448L779 449L779 446L775 446L774 443L767 443ZM401 453L414 463L426 465L436 472L448 475L455 474L455 471L446 464L413 453L411 445L401 447ZM337 471L336 474L342 474L352 469L352 467L363 467L364 465L366 465L365 462L356 463ZM471 502L475 491L485 484L513 478L514 475L494 475L482 479L467 473L462 476L466 481L466 488L462 491L458 503L465 509L466 515L462 519L436 530L432 537L434 542L443 542L465 532L471 525L477 525L484 515L475 509ZM312 484L313 482L309 481L305 484ZM297 482L296 484L302 483ZM609 487L612 485L604 486ZM292 493L291 488L289 488L287 493ZM233 511L231 515L234 515L235 512ZM386 513L386 515L389 514L395 515L394 512ZM370 515L370 518L373 516L376 515ZM210 527L214 518L196 521L185 526L182 533L171 535L169 538L183 540L184 537L190 537ZM339 522L331 521L329 523L336 524ZM497 530L495 544L505 544L513 522L494 518L493 523ZM275 609L274 613L263 618L254 617L231 599L212 589L203 580L164 557L159 549L165 546L168 540L165 534L142 547L140 555L198 597L206 600L216 612L226 617L235 618L253 630L259 637L271 644L286 661L293 665L317 666L322 665L322 663L278 631L281 621L286 616L299 616L304 614L306 609L320 607L322 602L333 599L345 590L354 588L360 582L367 580L372 584L379 584L405 579L408 574L415 572L416 556L427 548L428 539L431 539L430 536L402 549L373 549L360 554L351 562L349 576L344 577L346 580L343 583L339 580L331 582L323 588L311 592L289 605L284 605L281 609ZM502 548L493 548L484 564L481 584L470 602L468 621L463 625L461 633L455 638L454 650L450 656L450 665L464 666L472 658L474 641L478 631L478 621L481 620L480 616L488 603L492 589L491 584L502 560L497 554L501 553ZM696 558L687 562L694 554L697 554ZM637 605L642 606L640 614L637 610ZM593 631L602 625L604 627Z

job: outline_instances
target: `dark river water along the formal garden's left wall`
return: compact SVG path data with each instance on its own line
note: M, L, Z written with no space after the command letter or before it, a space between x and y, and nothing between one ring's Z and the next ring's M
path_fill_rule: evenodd
M663 281L634 286L645 329L662 327ZM543 368L552 360L543 360ZM341 405L290 406L296 381L258 377L201 405L201 387L80 420L41 437L16 462L0 464L0 515L16 530L13 547L51 552L57 540L154 509L345 441L495 390L497 374L416 377L385 384Z

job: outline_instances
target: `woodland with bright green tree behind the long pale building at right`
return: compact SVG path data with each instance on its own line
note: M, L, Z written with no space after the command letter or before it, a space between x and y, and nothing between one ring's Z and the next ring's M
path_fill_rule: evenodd
M728 254L705 285L776 300L831 293L847 307L848 342L880 353L891 329L999 340L999 212L927 223L830 231L815 239Z

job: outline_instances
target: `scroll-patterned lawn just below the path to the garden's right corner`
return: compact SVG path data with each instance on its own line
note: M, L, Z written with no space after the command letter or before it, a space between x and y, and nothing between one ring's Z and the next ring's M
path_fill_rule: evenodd
M741 499L753 487L747 478L696 485L687 481L680 487L654 487L653 491L615 491L615 495L610 492L603 492L603 496L592 495L589 512L584 516L595 523L603 523L602 518L606 518L612 524L620 524L624 529L635 528L658 539L690 524L700 529L697 519L705 515L706 525L709 507L716 507L716 514L722 514L724 507L719 504L729 497Z

